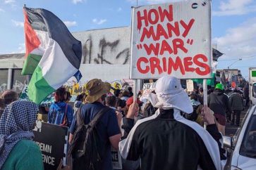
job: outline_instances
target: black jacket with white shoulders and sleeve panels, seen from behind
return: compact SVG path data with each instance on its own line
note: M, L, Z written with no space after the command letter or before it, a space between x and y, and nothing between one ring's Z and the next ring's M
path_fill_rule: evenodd
M197 166L221 169L221 158L216 152L221 134L216 124L207 126L211 136L199 124L182 117L178 110L157 110L134 126L133 119L123 118L123 123L121 156L128 160L140 158L141 170L193 170Z

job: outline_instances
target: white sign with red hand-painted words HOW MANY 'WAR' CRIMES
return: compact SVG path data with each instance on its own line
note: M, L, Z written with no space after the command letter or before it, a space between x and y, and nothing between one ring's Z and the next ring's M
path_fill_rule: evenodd
M211 1L178 1L132 11L130 79L211 78Z

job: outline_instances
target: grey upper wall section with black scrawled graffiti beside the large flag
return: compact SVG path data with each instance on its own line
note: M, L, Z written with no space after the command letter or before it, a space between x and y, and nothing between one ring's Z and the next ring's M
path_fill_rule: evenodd
M83 64L118 64L130 62L130 28L92 30L73 33L82 41Z

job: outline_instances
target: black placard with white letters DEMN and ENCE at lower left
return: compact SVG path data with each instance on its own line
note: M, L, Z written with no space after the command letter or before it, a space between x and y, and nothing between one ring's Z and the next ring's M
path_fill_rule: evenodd
M34 141L42 152L44 169L56 170L63 159L66 162L68 127L36 122Z

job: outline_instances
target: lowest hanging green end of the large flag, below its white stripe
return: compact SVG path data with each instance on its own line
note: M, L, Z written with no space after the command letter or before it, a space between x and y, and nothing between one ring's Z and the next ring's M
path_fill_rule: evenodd
M30 100L39 104L54 91L55 89L42 77L41 67L37 66L35 72L32 74L30 84L28 84L28 97Z

